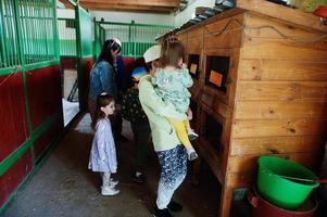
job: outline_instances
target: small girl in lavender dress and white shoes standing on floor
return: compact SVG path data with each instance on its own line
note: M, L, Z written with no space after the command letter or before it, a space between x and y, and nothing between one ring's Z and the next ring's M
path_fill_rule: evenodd
M102 175L102 195L116 195L120 190L115 189L118 181L111 179L111 174L117 170L116 149L113 140L111 123L108 118L115 112L114 98L106 92L98 95L96 118L92 127L96 130L90 151L89 166L92 171Z

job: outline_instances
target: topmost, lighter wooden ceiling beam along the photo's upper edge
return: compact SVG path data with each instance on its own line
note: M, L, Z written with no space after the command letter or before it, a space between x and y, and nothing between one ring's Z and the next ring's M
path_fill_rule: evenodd
M108 5L139 5L178 8L180 0L79 0L79 3L101 3Z

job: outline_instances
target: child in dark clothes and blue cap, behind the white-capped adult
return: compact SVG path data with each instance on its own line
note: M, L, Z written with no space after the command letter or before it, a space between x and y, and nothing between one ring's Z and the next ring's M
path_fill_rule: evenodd
M146 67L136 67L131 74L135 86L123 94L122 114L124 119L130 122L136 150L136 162L131 179L143 183L146 180L144 165L148 157L151 129L148 117L139 101L138 81L147 74Z

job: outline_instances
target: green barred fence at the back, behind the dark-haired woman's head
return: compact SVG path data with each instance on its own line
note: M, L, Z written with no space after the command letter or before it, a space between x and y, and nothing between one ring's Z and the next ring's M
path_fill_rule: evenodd
M122 55L124 56L141 56L148 48L155 44L155 38L163 35L173 28L173 26L164 25L148 25L131 23L112 23L112 22L96 22L100 29L104 30L104 37L101 36L103 30L96 30L96 38L102 38L100 44L103 44L104 40L116 37L122 41ZM97 35L98 34L98 35ZM96 44L96 51L99 49L99 44ZM101 49L101 48L100 48ZM95 53L96 54L96 53Z

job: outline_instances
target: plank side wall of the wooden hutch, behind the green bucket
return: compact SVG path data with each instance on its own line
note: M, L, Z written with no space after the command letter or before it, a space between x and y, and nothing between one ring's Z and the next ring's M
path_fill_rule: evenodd
M317 169L327 136L327 40L294 42L322 34L250 12L244 22L251 28L240 50L227 170L255 173L260 155Z

